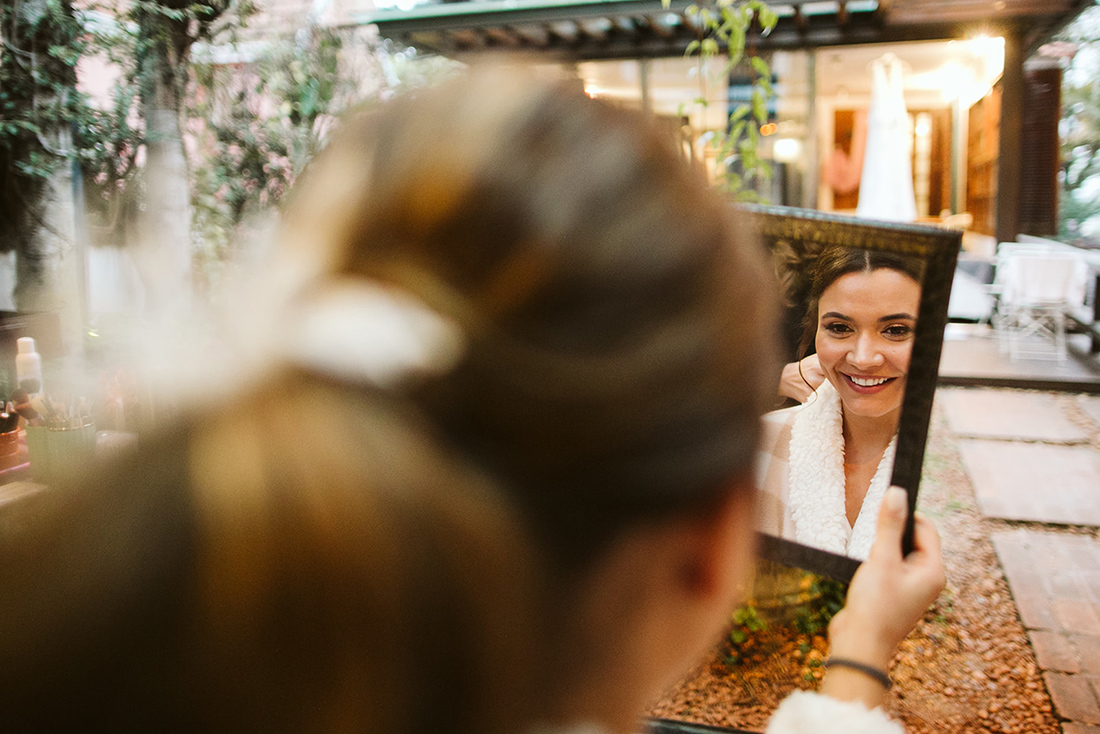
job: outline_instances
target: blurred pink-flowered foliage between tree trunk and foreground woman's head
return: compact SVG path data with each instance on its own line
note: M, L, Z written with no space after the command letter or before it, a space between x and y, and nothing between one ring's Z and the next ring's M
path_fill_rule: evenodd
M246 65L193 64L187 112L199 142L191 160L193 239L207 281L217 278L240 228L279 206L343 111L430 86L458 67L388 41L363 54L350 33L308 28L268 39ZM349 51L360 52L358 66Z

